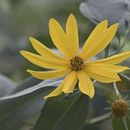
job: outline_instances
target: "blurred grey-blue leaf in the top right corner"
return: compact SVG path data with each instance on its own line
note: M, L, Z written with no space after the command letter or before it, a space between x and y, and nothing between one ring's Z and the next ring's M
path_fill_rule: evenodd
M80 11L95 24L105 19L109 24L118 22L119 32L124 32L125 21L130 16L129 6L129 0L85 0L80 4Z

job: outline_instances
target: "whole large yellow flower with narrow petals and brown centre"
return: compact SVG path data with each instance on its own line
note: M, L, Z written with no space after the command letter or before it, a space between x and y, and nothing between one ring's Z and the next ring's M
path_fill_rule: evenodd
M107 26L107 20L99 23L85 41L80 52L78 27L75 17L72 14L69 16L66 23L66 32L63 31L55 19L51 19L49 22L50 36L63 56L51 51L36 39L30 38L32 46L39 55L27 51L21 51L20 53L33 64L51 70L27 70L27 72L39 79L65 76L63 82L46 98L58 96L63 92L72 93L77 83L79 90L92 98L95 91L91 78L103 83L120 80L118 73L128 69L128 67L115 64L128 58L130 52L124 52L106 59L90 61L92 57L107 47L118 28L118 24Z

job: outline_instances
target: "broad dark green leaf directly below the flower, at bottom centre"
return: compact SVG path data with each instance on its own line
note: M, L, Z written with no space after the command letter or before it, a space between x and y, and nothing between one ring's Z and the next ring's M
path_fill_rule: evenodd
M69 100L47 101L34 130L79 130L88 115L89 98L77 95Z

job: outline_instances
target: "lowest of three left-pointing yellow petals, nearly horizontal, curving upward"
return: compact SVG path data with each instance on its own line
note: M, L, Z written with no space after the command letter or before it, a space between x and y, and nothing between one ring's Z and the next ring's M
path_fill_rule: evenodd
M69 73L70 69L62 69L62 70L52 70L52 71L33 71L27 70L31 75L38 79L52 79L52 78L59 78L65 76Z

